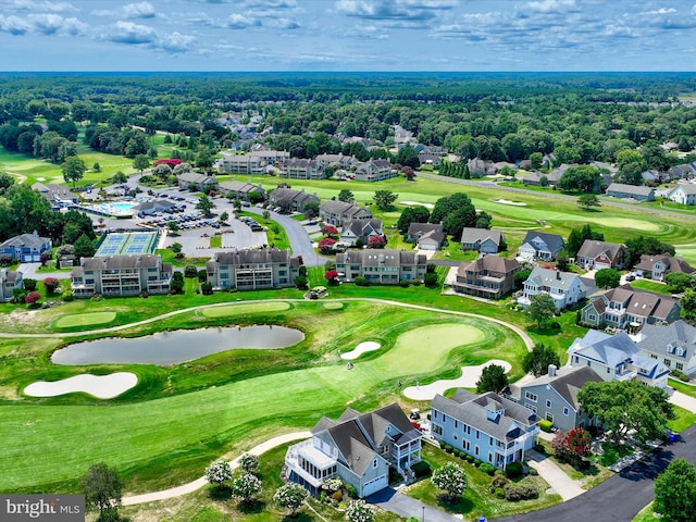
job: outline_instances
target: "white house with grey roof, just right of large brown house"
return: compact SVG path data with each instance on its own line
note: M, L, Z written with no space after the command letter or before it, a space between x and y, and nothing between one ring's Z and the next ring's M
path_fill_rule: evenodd
M580 302L586 291L587 289L577 274L535 266L524 282L523 294L518 302L523 307L529 307L533 296L547 294L554 299L556 310L562 310Z

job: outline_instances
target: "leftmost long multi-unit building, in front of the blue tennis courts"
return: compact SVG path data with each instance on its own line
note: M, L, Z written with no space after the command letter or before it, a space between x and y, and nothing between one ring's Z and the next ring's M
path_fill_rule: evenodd
M169 294L172 272L172 263L156 254L82 258L71 272L71 287L75 297Z

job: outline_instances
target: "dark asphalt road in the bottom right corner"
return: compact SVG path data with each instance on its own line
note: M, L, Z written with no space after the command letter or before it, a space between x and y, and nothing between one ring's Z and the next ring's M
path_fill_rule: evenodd
M629 522L655 498L655 478L676 458L696 463L696 425L680 439L658 448L645 461L617 473L587 493L552 508L495 519L496 522L558 522L587 520Z

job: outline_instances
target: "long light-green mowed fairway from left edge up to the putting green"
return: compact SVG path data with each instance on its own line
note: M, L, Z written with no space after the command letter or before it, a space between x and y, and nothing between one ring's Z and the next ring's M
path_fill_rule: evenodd
M423 335L427 338L437 332L427 326L423 332L402 334L385 358L359 362L352 370L340 361L109 408L2 407L0 439L12 444L0 455L0 490L75 480L100 460L133 470L169 456L170 465L176 465L177 456L204 453L210 440L223 445L243 440L243 432L251 427L307 428L321 415L336 413L356 398L369 395L381 383L408 381L414 372L442 368L456 346L475 341L473 351L495 350L499 336L506 335L504 328L478 321L455 323L439 325L446 335L455 335L449 340L437 337L431 346L423 346ZM478 325L482 333L476 332ZM521 340L518 345L518 351L523 352ZM44 457L36 459L36 455ZM215 455L210 455L213 458Z

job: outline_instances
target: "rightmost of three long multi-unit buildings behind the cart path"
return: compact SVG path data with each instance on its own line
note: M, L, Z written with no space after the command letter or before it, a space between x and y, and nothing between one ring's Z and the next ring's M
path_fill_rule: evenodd
M424 254L405 250L363 249L336 254L336 271L346 282L356 277L393 285L401 279L423 281L426 268Z

